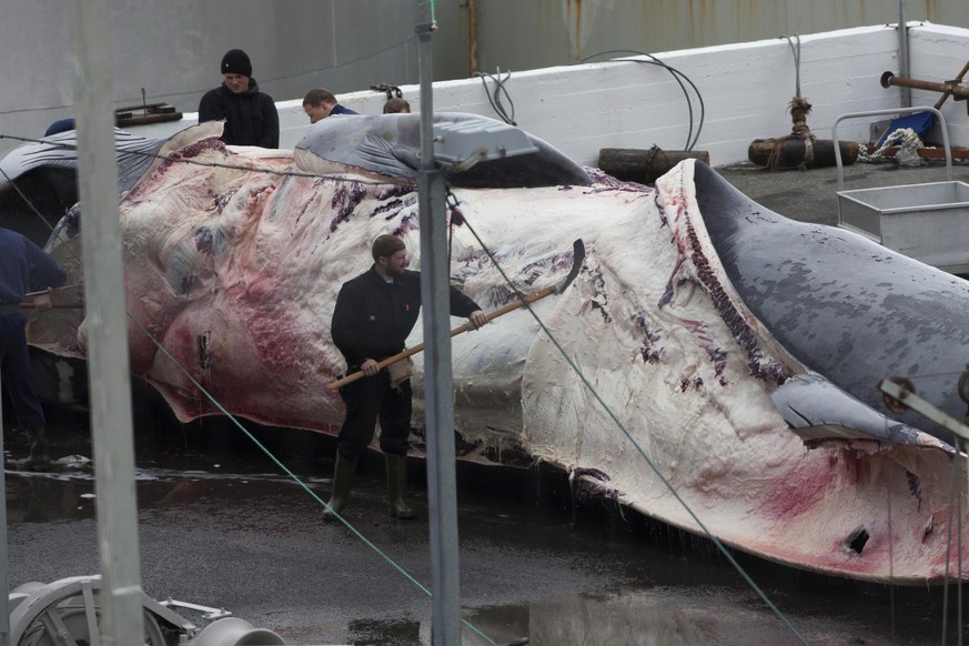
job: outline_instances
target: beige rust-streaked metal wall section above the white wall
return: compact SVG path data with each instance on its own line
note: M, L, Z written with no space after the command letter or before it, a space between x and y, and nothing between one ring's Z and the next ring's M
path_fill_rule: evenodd
M662 52L895 23L899 0L446 0L437 4L437 77L468 71L476 8L478 70L569 64L614 50ZM907 0L906 19L969 28L967 0ZM953 74L959 70L953 70Z

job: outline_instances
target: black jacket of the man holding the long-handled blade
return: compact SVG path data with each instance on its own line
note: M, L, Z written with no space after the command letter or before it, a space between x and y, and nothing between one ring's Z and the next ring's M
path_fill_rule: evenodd
M330 333L349 366L380 361L404 350L421 310L421 274L405 271L387 283L376 269L340 287ZM477 303L451 287L451 314L468 316Z

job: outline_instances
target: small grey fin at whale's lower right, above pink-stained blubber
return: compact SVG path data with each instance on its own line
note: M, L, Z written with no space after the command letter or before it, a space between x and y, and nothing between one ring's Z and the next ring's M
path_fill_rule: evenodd
M809 448L864 440L956 453L949 444L882 415L816 373L795 375L770 398L788 427Z

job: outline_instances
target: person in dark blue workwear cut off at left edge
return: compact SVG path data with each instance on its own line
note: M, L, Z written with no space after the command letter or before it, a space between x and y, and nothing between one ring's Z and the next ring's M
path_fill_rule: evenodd
M0 382L10 396L18 425L30 436L21 466L50 466L43 408L30 385L27 317L20 309L28 291L59 287L67 275L58 263L21 234L0 229Z

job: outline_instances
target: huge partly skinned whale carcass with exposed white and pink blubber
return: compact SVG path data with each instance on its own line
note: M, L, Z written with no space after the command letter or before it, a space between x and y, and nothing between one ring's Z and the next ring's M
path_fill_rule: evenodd
M381 233L421 264L417 124L331 118L295 153L226 148L206 127L161 148L168 159L121 200L132 373L181 420L218 414L211 395L334 433L340 285ZM969 542L947 541L950 524L969 526L950 499L955 452L875 390L955 375L920 392L965 411L969 287L771 213L693 161L654 190L537 144L450 176L467 223L452 231L452 280L486 310L556 284L575 239L587 251L568 290L532 306L552 337L518 310L453 340L462 457L545 461L644 514L700 532L695 514L727 545L816 572L936 583L947 554L956 572L955 545L969 561ZM80 238L57 250L74 272ZM36 343L83 356L84 324L58 316L37 320Z

